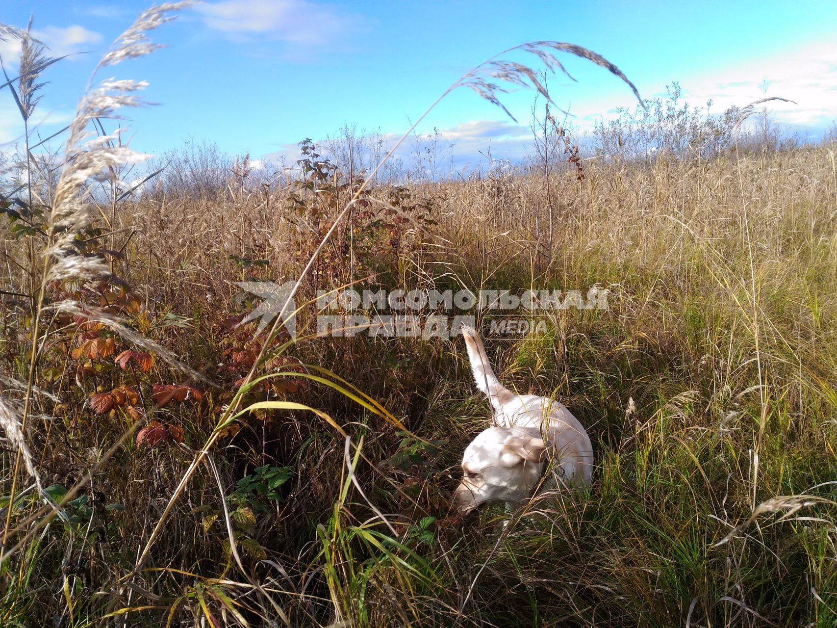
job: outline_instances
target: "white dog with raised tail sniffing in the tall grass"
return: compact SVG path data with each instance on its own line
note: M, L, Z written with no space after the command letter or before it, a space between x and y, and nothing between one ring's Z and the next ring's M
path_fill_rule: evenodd
M494 375L477 332L462 327L477 388L494 407L494 427L465 448L465 476L454 492L460 514L488 502L523 502L531 497L554 459L567 486L587 486L593 474L593 448L583 426L559 404L534 394L514 394Z

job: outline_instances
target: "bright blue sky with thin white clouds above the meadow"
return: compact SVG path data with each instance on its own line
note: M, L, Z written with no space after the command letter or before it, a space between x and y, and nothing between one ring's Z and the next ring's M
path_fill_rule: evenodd
M64 126L100 55L148 3L7 0L0 23L24 27L53 54L90 51L48 69L37 120L41 136ZM221 0L184 11L151 33L169 47L110 69L147 80L159 106L128 112L131 146L162 153L185 138L264 158L307 137L334 136L348 122L393 138L406 131L473 65L537 39L573 42L617 64L645 98L680 81L686 100L715 100L716 111L768 95L798 101L773 108L778 121L821 136L837 118L837 3L826 2L481 2L320 3ZM15 44L0 42L7 66ZM513 59L532 61L525 55ZM633 106L628 87L581 59L563 58L578 79L549 81L558 105L589 126ZM105 78L105 77L102 77ZM504 102L520 122L469 90L454 92L419 131L438 128L459 160L520 157L531 142L533 92ZM22 127L0 90L0 150Z

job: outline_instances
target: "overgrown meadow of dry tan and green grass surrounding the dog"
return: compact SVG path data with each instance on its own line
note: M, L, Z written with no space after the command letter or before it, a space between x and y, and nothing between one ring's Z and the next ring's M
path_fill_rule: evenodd
M110 65L176 8L97 72L130 73ZM451 87L533 88L525 164L450 178L419 147L376 172L347 132L290 169L211 144L143 169L114 119L141 84L96 75L41 143L60 60L0 37L23 41L0 97L28 133L0 178L0 625L834 625L834 133L801 145L775 103L674 87L582 142L538 72L574 54L633 85L535 42L510 53L534 69ZM262 300L238 283L266 281L295 282L295 336L245 321ZM318 335L317 291L346 286L606 290L515 312L528 333L473 312L501 381L587 426L593 485L452 516L490 422L465 347Z

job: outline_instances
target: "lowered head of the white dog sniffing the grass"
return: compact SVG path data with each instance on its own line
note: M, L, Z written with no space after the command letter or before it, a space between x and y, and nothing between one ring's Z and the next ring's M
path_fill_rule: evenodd
M465 448L464 476L454 492L458 512L488 502L531 497L546 466L547 445L536 428L490 427Z

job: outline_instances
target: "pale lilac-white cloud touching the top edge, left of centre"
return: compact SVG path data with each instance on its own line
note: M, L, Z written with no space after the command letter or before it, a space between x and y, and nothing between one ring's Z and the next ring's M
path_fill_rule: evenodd
M326 45L357 28L362 19L307 0L223 0L197 7L209 28L247 42L253 35L288 44Z

